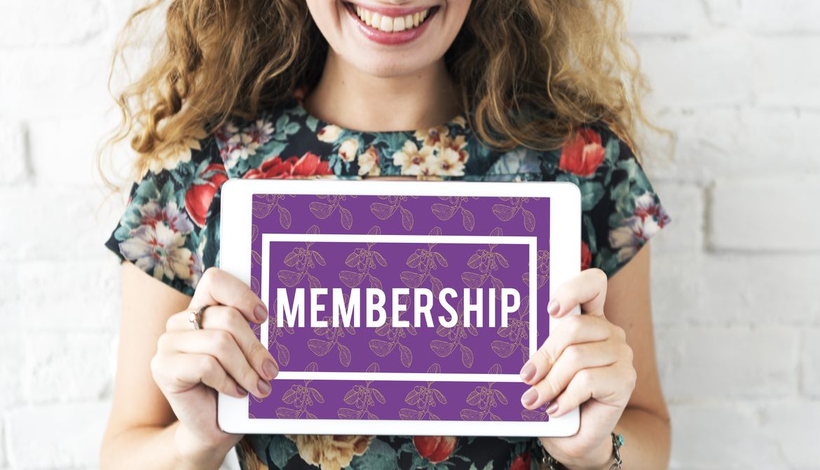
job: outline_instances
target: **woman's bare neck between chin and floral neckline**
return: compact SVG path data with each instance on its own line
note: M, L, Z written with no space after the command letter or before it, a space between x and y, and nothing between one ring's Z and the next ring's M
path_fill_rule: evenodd
M349 130L426 129L462 112L456 89L443 58L412 75L377 77L330 49L321 79L303 105L322 121Z

